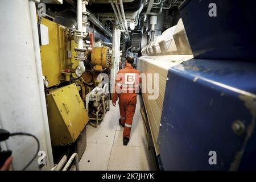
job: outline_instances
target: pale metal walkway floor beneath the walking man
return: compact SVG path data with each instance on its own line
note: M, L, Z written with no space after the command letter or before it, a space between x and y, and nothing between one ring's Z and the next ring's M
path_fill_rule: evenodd
M80 170L156 170L154 152L147 150L146 129L141 117L140 99L131 129L130 142L123 146L123 127L119 125L119 108L110 103L110 111L97 129L88 125L87 147L80 159ZM73 165L72 169L75 169Z

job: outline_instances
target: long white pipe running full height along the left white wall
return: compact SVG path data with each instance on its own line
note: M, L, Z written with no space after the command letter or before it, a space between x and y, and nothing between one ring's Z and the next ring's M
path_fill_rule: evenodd
M54 164L53 164L53 156L52 156L51 138L49 135L49 123L48 123L47 109L46 109L46 97L44 95L43 72L42 72L42 63L41 63L41 55L40 55L40 45L39 45L38 24L37 24L37 18L36 18L35 2L30 0L29 6L30 6L33 46L35 51L36 73L38 76L40 103L42 107L42 115L43 115L43 121L44 121L44 136L46 137L47 158L49 160L49 167L52 168Z

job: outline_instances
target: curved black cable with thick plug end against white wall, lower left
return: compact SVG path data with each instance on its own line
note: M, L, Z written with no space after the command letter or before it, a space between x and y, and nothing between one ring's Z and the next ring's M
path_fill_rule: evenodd
M28 166L30 166L30 164L33 162L33 160L36 158L36 156L38 155L39 149L40 149L40 143L38 138L36 138L34 135L32 134L28 134L28 133L9 133L9 131L0 129L0 141L6 140L9 137L14 137L17 135L24 135L24 136L29 136L29 137L33 137L36 140L36 143L38 143L38 150L35 153L35 156L30 160L30 162L22 169L22 171L24 171Z

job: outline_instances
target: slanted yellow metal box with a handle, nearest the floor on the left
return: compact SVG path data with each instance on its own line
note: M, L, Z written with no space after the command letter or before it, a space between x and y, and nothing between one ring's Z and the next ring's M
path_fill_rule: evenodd
M47 110L52 146L75 142L89 121L77 86L71 84L47 95Z

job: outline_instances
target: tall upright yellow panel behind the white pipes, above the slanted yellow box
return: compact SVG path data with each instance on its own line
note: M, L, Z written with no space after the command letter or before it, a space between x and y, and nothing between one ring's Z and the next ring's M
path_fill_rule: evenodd
M66 29L46 18L42 24L48 27L49 44L41 46L41 60L43 75L48 80L48 87L57 85L62 80L61 71L65 65L65 35Z

